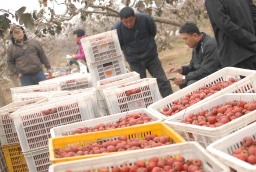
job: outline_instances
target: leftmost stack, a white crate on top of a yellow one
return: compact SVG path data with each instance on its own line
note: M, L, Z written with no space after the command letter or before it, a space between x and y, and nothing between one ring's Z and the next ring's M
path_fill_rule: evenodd
M47 101L47 98L35 98L13 102L0 108L0 140L2 143L2 150L0 150L0 172L8 170L9 172L29 172L26 159L22 154L14 122L9 115L22 107L28 107L45 101Z

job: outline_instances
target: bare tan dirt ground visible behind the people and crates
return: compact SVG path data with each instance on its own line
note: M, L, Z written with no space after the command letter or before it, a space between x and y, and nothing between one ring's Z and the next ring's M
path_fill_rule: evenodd
M207 34L212 34L212 30L209 26L203 27L201 29ZM171 45L172 49L168 49L165 51L162 51L159 53L159 59L162 62L163 69L166 71L168 67L171 66L181 66L181 65L187 65L189 64L189 61L191 59L192 50L188 48L187 45L183 43L183 40L177 36L175 37L175 42ZM71 52L75 52L77 49L76 44L72 44L72 46L68 46L68 48L63 48L61 51L59 51L54 57L49 58L51 66L52 67L64 67L66 65L66 54L72 54ZM128 67L128 63L126 63L126 66ZM129 69L129 67L128 67ZM45 69L44 69L45 70ZM177 76L179 74L168 74L167 77L173 77ZM147 72L147 76L151 77L150 74ZM11 103L11 85L6 83L0 83L0 89L2 90L1 97L3 96L4 101L0 101L0 107L4 105L8 105ZM171 81L172 89L173 91L178 91L179 87Z

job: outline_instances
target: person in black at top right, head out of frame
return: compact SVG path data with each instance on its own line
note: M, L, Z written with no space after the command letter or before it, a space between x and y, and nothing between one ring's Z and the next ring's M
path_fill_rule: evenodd
M205 0L223 67L256 70L256 7L252 0Z

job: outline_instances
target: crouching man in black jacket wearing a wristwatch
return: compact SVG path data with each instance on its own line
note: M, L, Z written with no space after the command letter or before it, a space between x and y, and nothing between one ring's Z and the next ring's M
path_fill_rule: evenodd
M205 33L201 33L194 24L187 22L179 33L185 44L193 48L190 64L181 67L170 67L167 72L180 73L174 82L182 89L196 81L216 72L220 65L216 53L216 41Z

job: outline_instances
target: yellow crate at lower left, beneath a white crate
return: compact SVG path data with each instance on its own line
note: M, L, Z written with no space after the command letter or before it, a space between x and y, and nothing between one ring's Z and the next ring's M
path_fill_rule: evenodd
M2 146L9 172L29 172L20 144Z

